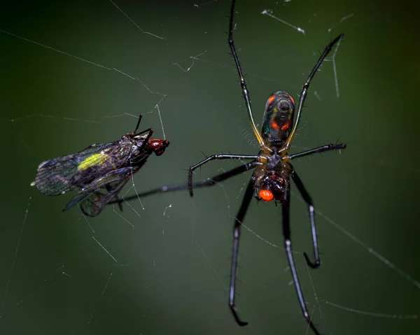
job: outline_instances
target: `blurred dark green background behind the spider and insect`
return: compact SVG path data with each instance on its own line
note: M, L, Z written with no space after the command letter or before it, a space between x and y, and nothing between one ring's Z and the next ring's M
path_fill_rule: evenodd
M143 34L109 1L11 2L1 5L0 29L167 94L159 106L171 145L134 177L138 192L186 183L202 152L258 152L223 34L228 1L198 8L118 1L164 40ZM267 8L306 34L261 15ZM325 63L293 143L293 152L337 138L348 143L342 155L294 164L318 210L323 266L308 271L302 253L295 255L316 324L324 334L418 334L418 320L398 320L420 312L416 11L394 1L293 0L239 1L237 12L235 41L258 123L269 94L297 97L318 52L345 34L336 56L340 97ZM153 108L162 95L9 34L0 33L0 45L1 334L306 334L283 251L255 236L282 245L274 204L253 201L245 220L255 234L242 235L237 304L248 327L228 310L232 222L250 173L193 199L186 192L149 197L144 210L134 201L139 216L110 206L94 219L77 208L62 213L70 195L45 197L29 187L40 162L132 131L130 115L143 113L141 129L154 127L161 137ZM190 71L179 67L204 51ZM196 180L238 164L212 162ZM292 201L293 246L310 251L305 206L297 194Z

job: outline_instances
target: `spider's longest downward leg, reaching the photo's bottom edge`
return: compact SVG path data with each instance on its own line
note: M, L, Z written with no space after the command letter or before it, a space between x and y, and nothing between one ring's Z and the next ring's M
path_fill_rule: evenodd
M281 211L283 215L283 237L284 237L284 249L286 250L286 255L288 263L290 266L290 271L292 272L293 283L295 283L295 289L297 293L297 299L299 299L300 310L304 318L307 320L309 327L314 331L316 335L320 335L316 329L314 323L311 320L311 317L308 313L308 308L304 302L302 289L300 288L299 278L297 277L297 271L295 267L295 261L293 259L292 252L292 242L290 239L290 188L286 189L284 193L284 200L282 201Z

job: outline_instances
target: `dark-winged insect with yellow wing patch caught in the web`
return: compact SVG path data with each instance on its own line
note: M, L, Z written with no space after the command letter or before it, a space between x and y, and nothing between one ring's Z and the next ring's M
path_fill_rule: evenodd
M160 156L169 145L167 140L151 138L151 128L136 134L140 121L141 115L136 129L122 136L120 141L92 144L71 155L42 162L31 186L45 195L76 191L63 211L80 203L85 215L99 215L110 201L117 199L125 183L152 152Z

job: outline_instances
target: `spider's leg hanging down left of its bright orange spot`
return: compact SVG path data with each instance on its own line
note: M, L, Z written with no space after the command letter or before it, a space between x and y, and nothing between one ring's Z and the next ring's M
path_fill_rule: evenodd
M232 247L232 263L230 265L230 285L229 285L229 308L232 311L233 317L235 318L239 326L246 326L248 322L241 321L238 316L237 306L235 305L235 286L236 286L236 276L238 268L238 252L239 252L239 237L241 236L241 224L244 220L246 211L248 210L249 203L253 197L254 192L254 183L251 178L249 180L248 186L246 187L244 199L242 200L241 207L235 218L233 224L233 247Z

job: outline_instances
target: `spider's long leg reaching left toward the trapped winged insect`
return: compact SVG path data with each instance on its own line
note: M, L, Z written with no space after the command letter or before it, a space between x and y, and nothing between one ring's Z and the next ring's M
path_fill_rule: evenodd
M208 178L207 180L195 182L193 183L193 188L209 187L209 186L216 185L217 183L220 183L223 180L229 179L245 171L251 170L255 168L256 165L258 165L258 162L250 162L241 166L237 166L230 171L223 172L214 177ZM189 189L189 185L164 185L162 187L154 188L153 190L148 190L146 192L134 194L130 197L125 197L124 199L113 200L110 202L110 204L118 204L118 206L120 206L120 204L122 204L125 201L141 199L142 197L148 197L149 195L158 194L158 193L174 192L174 191L187 190L187 189Z

